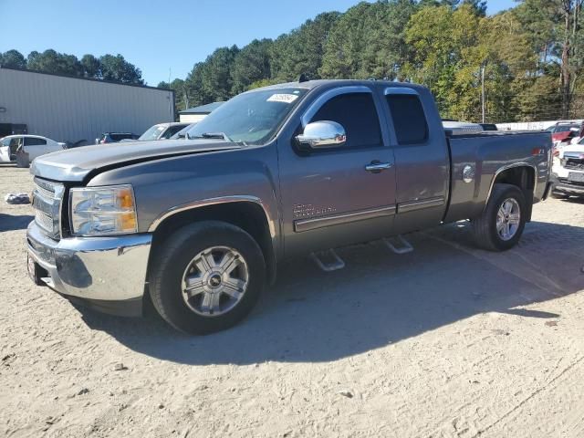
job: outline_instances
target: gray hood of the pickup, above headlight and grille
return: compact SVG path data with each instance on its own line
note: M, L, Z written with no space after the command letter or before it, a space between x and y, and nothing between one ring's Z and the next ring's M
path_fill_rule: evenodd
M53 181L82 182L89 173L179 155L241 149L216 140L131 141L57 151L36 158L30 172Z

